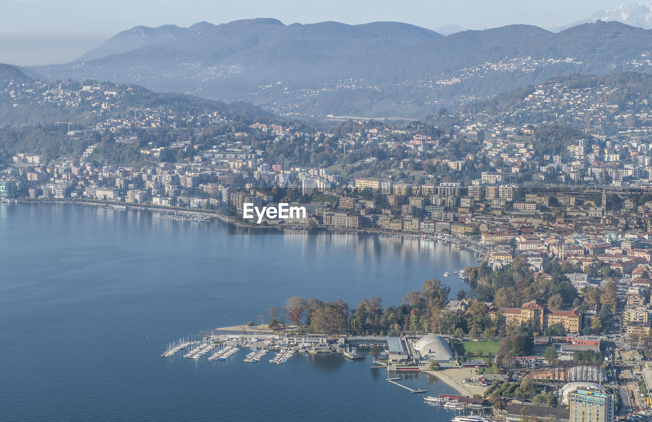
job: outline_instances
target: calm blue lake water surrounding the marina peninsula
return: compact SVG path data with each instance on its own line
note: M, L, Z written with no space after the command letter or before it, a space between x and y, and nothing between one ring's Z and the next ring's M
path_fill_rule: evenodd
M384 381L370 359L285 365L160 358L201 330L242 324L290 296L379 296L475 264L447 244L391 236L229 234L145 210L0 204L0 420L449 420ZM407 375L428 394L454 393Z

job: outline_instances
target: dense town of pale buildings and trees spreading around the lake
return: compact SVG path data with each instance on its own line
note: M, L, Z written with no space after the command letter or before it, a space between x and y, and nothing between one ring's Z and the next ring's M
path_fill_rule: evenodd
M553 81L509 112L442 111L439 126L323 127L210 104L196 114L143 106L153 94L137 87L11 81L2 95L12 107L84 119L50 128L72 152L12 152L0 167L0 200L200 212L248 227L256 224L243 219L244 204L289 203L307 215L261 225L451 242L477 257L477 268L456 274L470 293L422 312L413 304L405 314L415 319L388 315L378 327L445 335L442 347L456 339L449 363L479 369L466 383L491 385L475 400L489 397L506 420L522 421L526 406L528 417L579 421L574 412L588 403L610 422L648 407L652 389L652 104L605 100L617 90ZM551 122L582 128L551 132ZM515 345L500 360L496 349L471 351L524 335L524 326L531 349ZM557 397L570 417L566 408L550 413Z

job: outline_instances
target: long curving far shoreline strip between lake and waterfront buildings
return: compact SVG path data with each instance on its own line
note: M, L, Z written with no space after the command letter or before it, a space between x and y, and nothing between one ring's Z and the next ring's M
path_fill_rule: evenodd
M4 202L4 201L3 201ZM92 206L111 206L111 205L119 205L119 206L124 206L128 210L145 210L145 211L159 211L159 212L166 212L168 214L173 214L173 213L183 213L183 214L192 214L196 216L209 216L211 218L216 218L222 221L222 223L226 223L228 225L233 225L234 227L239 227L241 229L252 229L252 230L269 230L269 229L275 229L276 231L280 232L303 232L307 230L304 229L293 229L291 227L284 227L282 225L246 225L243 224L239 221L233 220L229 218L228 216L224 216L222 214L218 214L217 212L211 212L211 211L206 211L206 210L200 210L200 209L194 209L194 208L181 208L181 207L175 207L171 208L169 206L156 206L153 204L132 204L132 203L121 203L118 201L88 201L88 200L81 200L81 201L72 201L72 200L61 200L61 199L53 199L53 200L41 200L41 199L27 199L27 198L22 198L22 199L14 199L12 201L7 201L7 203L38 203L38 204L81 204L81 205L92 205ZM383 231L382 229L376 229L376 228L359 228L359 229L344 229L340 227L319 227L315 232L346 232L346 233L357 233L357 234L377 234L380 236L396 236L400 238L410 238L410 239L421 239L421 240L431 240L431 241L441 241L448 243L450 246L457 247L460 250L466 250L468 252L472 252L477 254L476 249L471 249L467 246L461 246L460 244L468 241L464 240L459 240L459 239L450 239L450 238L439 238L435 236L428 236L428 234L423 234L423 233L405 233L405 232L393 232L393 231Z

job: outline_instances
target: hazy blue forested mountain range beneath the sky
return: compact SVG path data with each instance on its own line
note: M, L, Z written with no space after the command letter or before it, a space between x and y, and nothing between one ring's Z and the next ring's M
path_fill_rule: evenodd
M652 31L617 21L559 33L508 25L443 36L400 22L258 18L134 27L77 61L26 72L243 100L280 115L419 117L559 74L650 72L651 51Z

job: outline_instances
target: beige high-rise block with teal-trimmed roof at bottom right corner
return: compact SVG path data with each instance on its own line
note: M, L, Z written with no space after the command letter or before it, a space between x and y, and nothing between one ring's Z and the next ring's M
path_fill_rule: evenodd
M569 406L569 422L614 422L614 397L604 391L580 387L569 394Z

